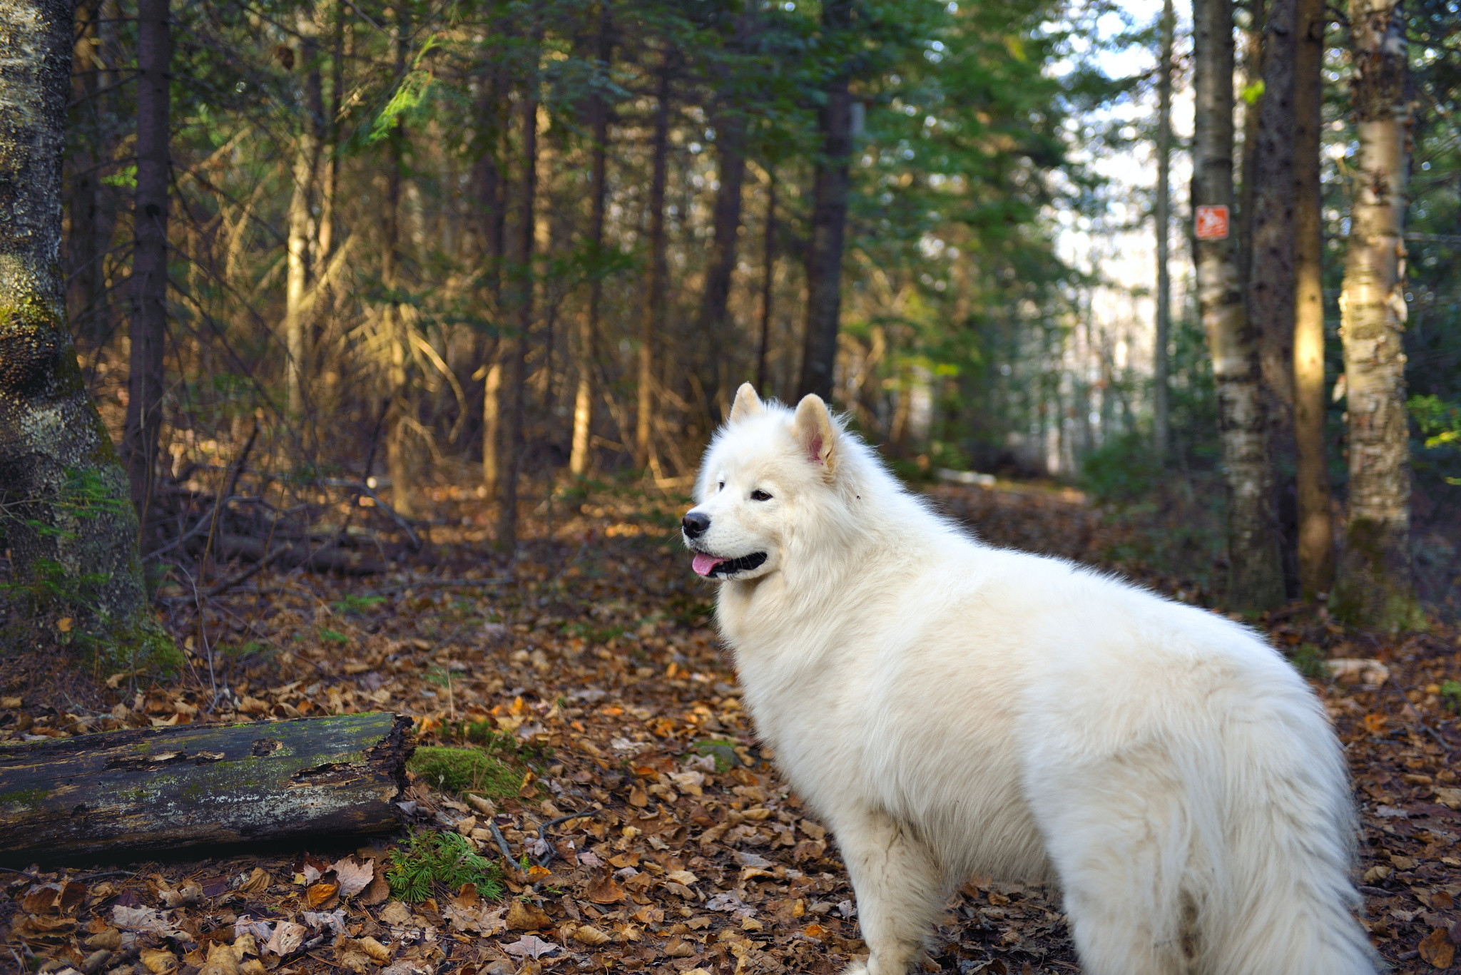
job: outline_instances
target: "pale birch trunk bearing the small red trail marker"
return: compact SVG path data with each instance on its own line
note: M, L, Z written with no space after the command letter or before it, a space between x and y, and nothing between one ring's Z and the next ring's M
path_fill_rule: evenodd
M1195 117L1192 209L1233 206L1233 7L1197 0L1192 16ZM1227 482L1227 598L1235 608L1283 601L1283 570L1273 526L1273 487L1254 344L1232 234L1197 240L1198 313L1213 355L1218 434Z

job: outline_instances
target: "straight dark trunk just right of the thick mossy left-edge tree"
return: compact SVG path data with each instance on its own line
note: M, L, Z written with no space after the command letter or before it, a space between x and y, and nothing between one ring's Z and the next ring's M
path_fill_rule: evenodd
M123 456L131 506L148 536L162 430L162 352L168 314L168 0L137 3L137 196L131 251L131 361Z

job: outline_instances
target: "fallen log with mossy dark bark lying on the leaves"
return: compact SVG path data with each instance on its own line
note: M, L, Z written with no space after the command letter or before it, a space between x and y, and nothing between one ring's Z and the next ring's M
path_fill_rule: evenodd
M365 713L0 746L0 864L394 832L409 731Z

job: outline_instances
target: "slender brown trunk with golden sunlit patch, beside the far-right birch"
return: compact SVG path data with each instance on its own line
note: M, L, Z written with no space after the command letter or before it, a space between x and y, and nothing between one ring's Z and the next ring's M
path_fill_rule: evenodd
M1334 525L1324 450L1324 232L1319 132L1324 124L1324 0L1300 0L1294 51L1293 421L1299 506L1299 586L1305 599L1334 585Z

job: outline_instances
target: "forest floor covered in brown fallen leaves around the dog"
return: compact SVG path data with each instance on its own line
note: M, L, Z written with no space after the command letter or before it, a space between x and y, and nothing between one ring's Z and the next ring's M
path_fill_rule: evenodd
M1141 548L1132 532L1160 523L1134 526L1040 485L932 494L995 544L1205 599L1197 582L1131 557ZM652 487L545 501L504 582L489 512L470 491L443 488L427 550L386 574L266 570L202 612L190 591L165 586L188 652L177 680L92 681L53 659L7 661L0 740L409 713L422 746L478 748L511 770L506 786L463 782L450 756L418 754L405 797L418 846L428 830L450 832L501 865L495 827L516 862L500 902L482 899L487 883L392 896L383 873L415 862L405 833L0 873L0 969L196 975L212 956L203 975L840 971L863 950L846 871L757 744L713 630L713 589L678 539L682 509ZM1457 971L1461 729L1441 686L1461 678L1461 630L1391 639L1297 605L1256 624L1312 668L1319 658L1382 664L1378 687L1365 683L1381 674L1373 667L1351 683L1313 681L1356 781L1365 924L1395 972ZM948 902L923 969L1080 966L1052 890L973 877Z

